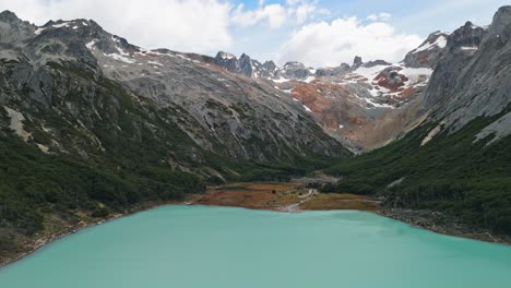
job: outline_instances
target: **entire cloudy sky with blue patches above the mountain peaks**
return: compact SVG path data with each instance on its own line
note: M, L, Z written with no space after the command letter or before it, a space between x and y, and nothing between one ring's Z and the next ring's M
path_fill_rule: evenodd
M37 25L92 19L145 48L218 50L307 65L400 61L431 32L487 25L509 0L0 0Z

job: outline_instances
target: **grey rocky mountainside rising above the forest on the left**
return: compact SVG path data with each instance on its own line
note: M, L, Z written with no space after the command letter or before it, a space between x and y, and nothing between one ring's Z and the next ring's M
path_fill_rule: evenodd
M93 21L50 21L37 27L11 12L0 14L0 105L31 122L31 141L46 152L85 158L109 153L102 127L112 135L128 133L134 142L159 140L163 146L166 136L178 133L192 140L181 154L192 158L201 157L198 149L253 160L344 153L288 94L215 64L222 60L253 76L252 67L260 64L248 56L234 62L221 53L213 59L150 51ZM265 65L271 69L272 62ZM130 132L123 130L123 117L142 115L140 122L130 123Z

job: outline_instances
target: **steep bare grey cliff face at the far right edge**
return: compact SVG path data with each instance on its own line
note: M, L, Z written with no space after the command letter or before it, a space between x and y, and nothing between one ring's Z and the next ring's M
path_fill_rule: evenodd
M491 117L511 103L511 7L502 7L488 27L467 22L453 32L424 96L423 109L455 132L477 117ZM496 123L506 121L500 115ZM502 137L511 133L492 125Z

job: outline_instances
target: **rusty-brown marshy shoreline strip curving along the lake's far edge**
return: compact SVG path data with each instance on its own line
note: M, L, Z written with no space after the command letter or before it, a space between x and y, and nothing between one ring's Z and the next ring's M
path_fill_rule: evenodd
M231 185L231 187L229 187ZM262 187L260 190L250 191L247 187ZM236 191L231 188L239 187ZM229 189L225 189L229 188ZM225 189L225 190L223 190ZM102 225L107 221L119 219L167 205L203 205L221 207L240 207L248 209L264 209L282 213L299 213L308 211L366 211L380 216L399 220L411 226L426 229L436 233L467 238L498 244L511 244L511 238L491 235L488 230L475 229L453 217L432 211L413 211L403 208L388 208L380 205L380 201L353 194L322 194L296 183L233 183L210 188L205 194L194 194L185 201L146 203L129 209L123 214L115 214L105 218L97 218L88 223L80 221L63 230L46 237L35 238L29 241L26 251L7 260L1 260L0 269L9 264L24 259L38 251L43 247L61 238L79 232L83 229Z

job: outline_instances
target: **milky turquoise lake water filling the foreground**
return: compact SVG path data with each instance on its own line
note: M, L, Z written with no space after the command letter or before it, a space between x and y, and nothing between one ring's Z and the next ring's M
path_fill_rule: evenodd
M0 268L0 287L511 287L511 247L364 212L164 206Z

